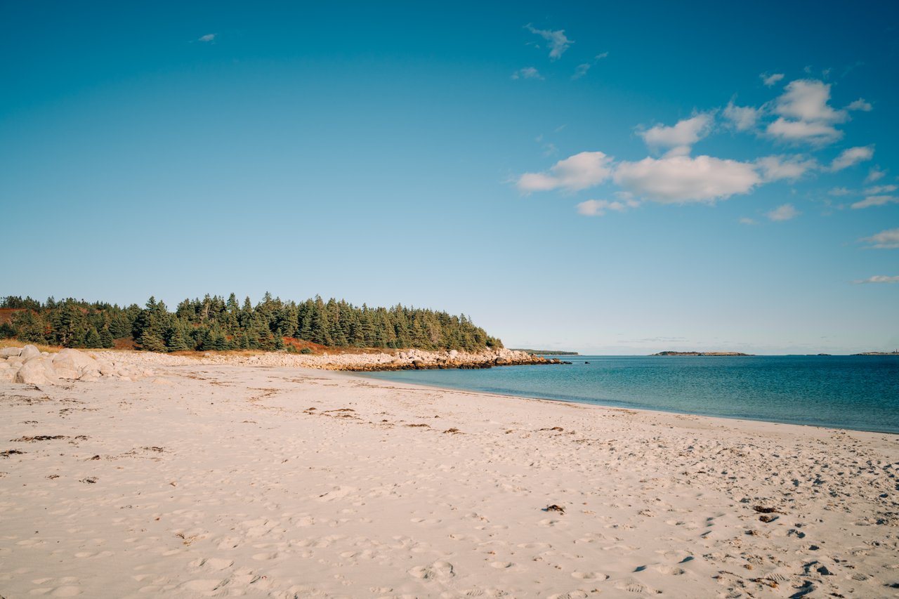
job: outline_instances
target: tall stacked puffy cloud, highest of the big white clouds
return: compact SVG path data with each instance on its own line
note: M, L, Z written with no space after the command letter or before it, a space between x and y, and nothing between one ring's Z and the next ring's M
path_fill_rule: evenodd
M786 141L824 144L842 137L833 125L846 121L849 114L837 111L828 102L831 86L815 79L791 81L774 103L779 119L768 126L769 135Z

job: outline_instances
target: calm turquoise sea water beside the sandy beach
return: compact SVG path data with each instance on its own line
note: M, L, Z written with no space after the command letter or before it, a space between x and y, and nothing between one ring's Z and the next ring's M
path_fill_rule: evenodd
M563 359L574 363L366 376L602 406L899 433L899 356Z

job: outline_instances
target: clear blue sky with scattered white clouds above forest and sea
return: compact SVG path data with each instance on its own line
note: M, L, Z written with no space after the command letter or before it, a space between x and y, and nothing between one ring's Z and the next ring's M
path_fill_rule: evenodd
M4 4L0 294L899 345L893 4L485 4Z

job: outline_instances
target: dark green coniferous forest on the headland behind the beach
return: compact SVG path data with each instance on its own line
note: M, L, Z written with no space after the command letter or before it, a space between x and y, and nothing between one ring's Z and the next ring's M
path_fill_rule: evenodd
M64 347L126 346L151 352L260 349L298 351L298 339L331 347L476 351L501 348L464 314L423 308L369 308L316 296L295 303L266 293L255 306L207 295L184 299L174 312L150 298L144 308L77 299L0 299L0 338ZM287 340L287 343L285 343ZM310 352L304 347L301 352Z

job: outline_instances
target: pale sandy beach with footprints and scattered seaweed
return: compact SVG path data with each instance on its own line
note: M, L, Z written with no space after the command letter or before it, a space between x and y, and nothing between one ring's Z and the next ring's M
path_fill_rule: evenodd
M153 368L0 385L0 596L899 595L895 435Z

